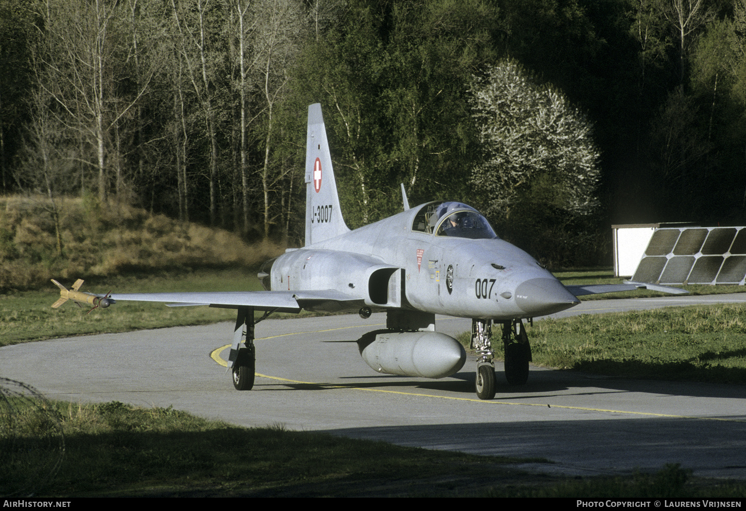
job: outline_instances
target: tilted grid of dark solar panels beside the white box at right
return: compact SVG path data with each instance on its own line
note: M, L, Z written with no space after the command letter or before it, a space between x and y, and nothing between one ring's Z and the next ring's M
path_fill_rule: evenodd
M661 284L744 284L746 228L656 229L632 280Z

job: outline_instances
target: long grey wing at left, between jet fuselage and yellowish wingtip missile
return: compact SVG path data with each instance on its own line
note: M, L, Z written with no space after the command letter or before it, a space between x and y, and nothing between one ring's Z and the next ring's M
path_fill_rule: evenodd
M114 301L160 301L169 307L209 305L222 309L254 307L257 310L276 310L298 313L302 308L342 310L345 305L360 301L335 289L318 291L235 291L235 292L145 292L110 295Z

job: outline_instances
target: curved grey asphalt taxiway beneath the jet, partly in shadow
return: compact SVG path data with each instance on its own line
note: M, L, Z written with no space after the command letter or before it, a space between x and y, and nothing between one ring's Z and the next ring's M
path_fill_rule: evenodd
M746 302L746 294L586 301L565 314ZM116 313L112 308L110 313ZM680 463L697 475L746 479L746 387L625 380L531 368L493 401L474 395L474 362L442 380L378 374L354 340L385 316L266 320L257 325L257 379L233 390L219 323L71 337L0 348L0 375L48 398L187 410L244 426L377 439L399 445L551 460L535 468L618 474ZM468 319L438 318L451 335Z

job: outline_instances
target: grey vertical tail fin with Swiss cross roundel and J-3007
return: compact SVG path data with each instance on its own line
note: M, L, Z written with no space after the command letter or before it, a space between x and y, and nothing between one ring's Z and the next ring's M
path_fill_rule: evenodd
M339 210L322 105L308 107L306 139L306 246L349 232Z

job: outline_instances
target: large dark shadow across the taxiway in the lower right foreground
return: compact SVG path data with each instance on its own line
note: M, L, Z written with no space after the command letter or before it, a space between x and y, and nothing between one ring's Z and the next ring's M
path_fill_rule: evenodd
M503 410L502 418L513 409ZM562 413L551 408L539 410L546 417ZM471 454L545 458L548 463L542 463L539 471L618 474L637 469L659 470L666 463L680 463L703 476L746 479L746 464L741 456L746 448L745 422L692 418L620 420L578 413L583 413L583 418L355 427L325 433Z

